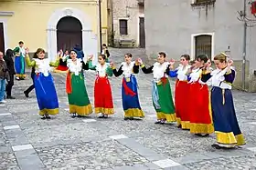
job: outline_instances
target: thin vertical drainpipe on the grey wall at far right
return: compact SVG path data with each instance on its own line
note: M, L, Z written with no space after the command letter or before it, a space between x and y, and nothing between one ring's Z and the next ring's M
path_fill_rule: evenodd
M246 81L246 40L247 40L247 23L245 20L246 17L246 0L243 1L243 17L244 17L244 25L243 25L243 52L242 52L242 89L245 89L245 81Z

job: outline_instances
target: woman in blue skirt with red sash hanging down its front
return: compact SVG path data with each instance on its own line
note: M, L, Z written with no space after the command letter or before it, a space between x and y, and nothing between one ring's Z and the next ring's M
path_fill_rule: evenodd
M111 63L113 75L123 75L122 100L124 120L133 120L133 117L144 117L144 112L139 102L138 84L134 75L139 73L140 67L137 63L132 62L132 57L133 55L130 53L124 55L125 62L121 64L118 71L113 63Z

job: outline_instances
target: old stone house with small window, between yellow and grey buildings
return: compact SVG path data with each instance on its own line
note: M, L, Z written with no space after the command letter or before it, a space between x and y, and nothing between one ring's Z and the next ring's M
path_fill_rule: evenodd
M109 44L144 47L144 0L109 0Z

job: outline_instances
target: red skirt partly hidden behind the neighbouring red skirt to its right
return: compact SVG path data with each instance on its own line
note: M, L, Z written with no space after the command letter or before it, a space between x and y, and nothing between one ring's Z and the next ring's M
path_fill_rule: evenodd
M189 84L187 81L176 81L176 117L177 125L181 125L183 129L189 129L189 113L187 104L189 102Z

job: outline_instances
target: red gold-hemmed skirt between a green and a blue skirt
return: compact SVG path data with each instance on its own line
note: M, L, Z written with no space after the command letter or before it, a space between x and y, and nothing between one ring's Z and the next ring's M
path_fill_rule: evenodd
M107 77L97 77L94 85L94 108L96 114L112 115L112 88Z

